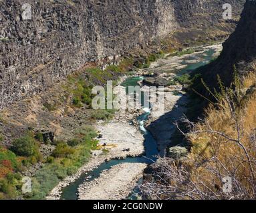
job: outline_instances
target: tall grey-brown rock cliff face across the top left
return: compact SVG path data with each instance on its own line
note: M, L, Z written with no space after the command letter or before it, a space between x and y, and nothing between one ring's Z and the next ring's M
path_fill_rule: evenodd
M91 63L118 61L180 28L223 22L222 5L243 0L0 1L0 107Z

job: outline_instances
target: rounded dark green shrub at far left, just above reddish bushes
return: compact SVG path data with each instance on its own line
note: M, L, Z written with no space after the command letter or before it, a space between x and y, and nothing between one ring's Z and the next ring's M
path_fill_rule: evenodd
M27 134L13 141L11 150L19 156L39 157L39 146L33 136Z

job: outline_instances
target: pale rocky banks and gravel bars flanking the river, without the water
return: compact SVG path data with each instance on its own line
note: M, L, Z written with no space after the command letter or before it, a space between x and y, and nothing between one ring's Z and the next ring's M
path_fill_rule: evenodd
M202 47L200 52L181 57L164 57L152 63L149 69L138 72L138 76L150 77L148 81L141 81L142 91L147 91L150 85L161 82L170 82L176 77L178 71L186 69L190 64L201 63L202 57L207 56L207 51L214 50L211 57L216 57L221 51L221 45ZM186 63L186 64L185 64ZM189 70L188 70L189 71ZM125 78L122 79L124 81ZM160 81L158 81L160 79ZM126 97L126 90L121 85L114 88L114 93L120 99ZM164 110L159 112L156 105L152 105L151 114L146 123L158 143L160 155L165 154L166 147L170 145L172 134L175 131L174 121L186 111L186 93L182 85L166 84L162 91L156 96L164 93ZM114 119L110 122L98 122L100 136L98 138L98 150L92 151L92 158L88 164L74 174L60 182L47 199L59 199L62 188L77 180L81 174L97 168L103 162L111 159L123 159L128 156L141 156L144 154L144 138L139 131L136 117L143 113L143 110L126 110L122 105L116 112ZM146 168L144 164L118 164L110 170L104 170L100 178L91 182L84 182L80 185L80 199L120 199L130 194L130 191L139 178L142 178L142 171ZM128 172L129 175L126 173ZM108 181L106 181L108 180ZM108 186L108 184L110 184ZM127 194L128 193L128 194ZM111 196L110 196L111 194Z

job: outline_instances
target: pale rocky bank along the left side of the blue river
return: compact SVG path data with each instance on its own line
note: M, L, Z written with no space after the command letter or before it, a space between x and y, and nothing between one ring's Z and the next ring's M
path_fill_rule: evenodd
M120 82L124 81L123 77ZM114 93L120 98L126 96L125 88L118 85L114 88ZM68 176L63 181L51 190L48 200L59 200L61 198L61 190L69 186L77 180L81 174L92 171L98 168L100 164L112 159L124 159L126 157L142 156L144 154L144 137L138 130L138 125L129 124L135 120L136 116L142 114L142 110L127 111L125 108L120 108L116 112L114 119L110 122L98 122L95 127L99 132L99 143L97 150L92 151L92 158L76 174ZM134 168L134 170L132 170ZM130 174L137 174L137 168L130 167ZM142 172L140 178L142 177ZM133 184L136 184L137 178ZM131 183L132 184L132 183ZM132 184L132 185L133 185Z

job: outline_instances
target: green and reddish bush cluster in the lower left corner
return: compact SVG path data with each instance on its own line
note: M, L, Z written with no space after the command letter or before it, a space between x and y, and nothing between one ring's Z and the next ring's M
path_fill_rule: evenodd
M13 140L9 149L0 147L0 199L13 199L21 196L21 175L24 166L30 166L42 160L39 152L39 134L27 132L24 136Z

